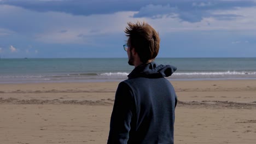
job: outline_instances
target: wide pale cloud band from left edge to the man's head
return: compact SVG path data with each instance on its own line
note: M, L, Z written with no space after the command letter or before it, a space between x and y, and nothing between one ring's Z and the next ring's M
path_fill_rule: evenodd
M5 15L6 13L8 16ZM74 16L59 12L31 12L10 5L0 5L0 20L3 20L0 22L0 27L12 29L19 35L43 43L85 44L98 35L123 33L126 22L133 21L132 16L135 13L126 11L114 14ZM83 37L78 35L83 35Z

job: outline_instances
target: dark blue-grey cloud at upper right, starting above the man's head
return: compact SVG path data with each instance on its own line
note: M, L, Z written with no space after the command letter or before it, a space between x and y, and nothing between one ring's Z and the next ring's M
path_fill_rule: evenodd
M193 2L193 1L192 1ZM162 17L177 17L187 22L200 22L204 17L216 19L235 19L241 15L212 15L216 10L233 10L236 8L251 8L256 6L252 1L212 1L212 2L187 2L170 3L166 5L149 4L138 10L133 17L148 17L150 19L161 19Z

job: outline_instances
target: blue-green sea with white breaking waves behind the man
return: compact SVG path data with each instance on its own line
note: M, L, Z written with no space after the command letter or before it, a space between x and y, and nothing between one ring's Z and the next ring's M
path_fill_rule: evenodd
M177 71L169 80L256 79L256 58L156 58ZM0 83L123 81L127 58L0 59Z

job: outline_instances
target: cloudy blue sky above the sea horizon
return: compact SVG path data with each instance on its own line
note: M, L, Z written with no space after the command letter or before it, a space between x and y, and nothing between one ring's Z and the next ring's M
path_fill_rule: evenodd
M159 32L158 57L256 57L256 0L0 0L1 58L127 57L127 22Z

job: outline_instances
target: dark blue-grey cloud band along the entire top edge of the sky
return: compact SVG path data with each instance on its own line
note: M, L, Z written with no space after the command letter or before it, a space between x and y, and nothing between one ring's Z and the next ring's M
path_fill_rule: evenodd
M136 4L135 4L136 3ZM1 4L1 3L0 3ZM159 19L175 12L179 19L188 22L199 22L203 17L208 17L211 10L230 10L236 7L254 7L255 1L221 1L204 0L197 1L153 1L153 0L129 0L129 1L3 1L2 4L14 5L29 10L42 12L61 12L72 15L99 15L114 14L121 11L138 11L134 17L149 17ZM172 16L172 15L171 15Z

